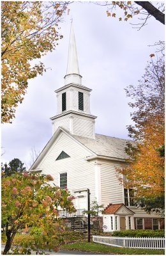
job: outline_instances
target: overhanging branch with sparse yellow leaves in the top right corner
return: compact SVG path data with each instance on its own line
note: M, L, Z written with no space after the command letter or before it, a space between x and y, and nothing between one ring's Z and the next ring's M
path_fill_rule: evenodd
M139 23L133 24L135 28L142 28L147 24L150 17L155 17L156 20L165 24L165 6L163 2L151 3L148 1L103 1L93 2L102 6L107 6L107 16L116 17L116 8L122 10L119 21L131 20L133 17L138 16Z

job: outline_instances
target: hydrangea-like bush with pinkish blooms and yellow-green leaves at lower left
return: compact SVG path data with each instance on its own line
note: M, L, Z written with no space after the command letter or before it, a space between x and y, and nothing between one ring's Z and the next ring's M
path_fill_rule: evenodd
M33 236L33 242L22 242L19 254L27 254L24 246L36 250L38 254L39 250L51 248L52 239L55 248L60 243L59 232L63 225L61 218L58 218L59 207L68 212L75 211L75 208L73 196L67 189L51 185L52 180L50 175L28 172L3 177L1 220L6 235L3 254L10 250L19 228L25 228Z

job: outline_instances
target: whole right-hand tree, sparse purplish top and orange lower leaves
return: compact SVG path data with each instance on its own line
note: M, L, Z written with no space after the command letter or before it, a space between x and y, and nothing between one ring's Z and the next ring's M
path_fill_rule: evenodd
M136 144L133 147L128 143L126 152L132 160L117 172L124 177L119 178L124 187L135 189L135 197L144 202L147 211L157 205L164 208L164 88L164 59L160 58L147 65L138 86L126 89L127 96L133 99L130 106L134 125L128 126L128 132Z

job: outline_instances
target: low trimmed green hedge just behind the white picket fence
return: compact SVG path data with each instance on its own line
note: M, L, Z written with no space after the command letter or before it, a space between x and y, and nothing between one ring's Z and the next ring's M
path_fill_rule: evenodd
M119 237L165 237L164 230L151 230L151 229L135 229L114 231L112 236Z

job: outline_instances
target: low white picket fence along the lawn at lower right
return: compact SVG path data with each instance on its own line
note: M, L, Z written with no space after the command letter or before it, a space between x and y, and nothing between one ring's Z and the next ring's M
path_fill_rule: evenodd
M165 237L93 236L93 242L125 248L165 249Z

